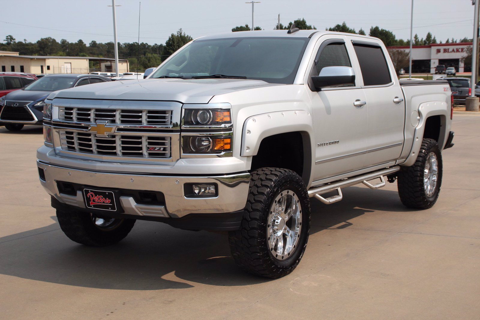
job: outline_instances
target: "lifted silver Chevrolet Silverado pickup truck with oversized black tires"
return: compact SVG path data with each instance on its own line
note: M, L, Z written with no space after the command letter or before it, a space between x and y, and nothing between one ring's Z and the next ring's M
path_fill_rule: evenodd
M235 262L271 278L304 254L310 198L397 179L430 208L453 145L446 81L400 83L379 39L329 31L206 36L147 79L45 102L38 172L67 237L106 246L136 219L228 231Z

